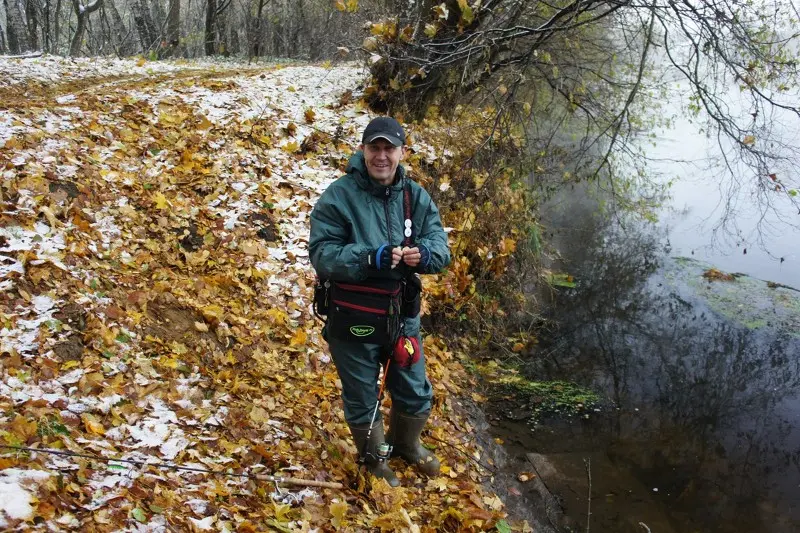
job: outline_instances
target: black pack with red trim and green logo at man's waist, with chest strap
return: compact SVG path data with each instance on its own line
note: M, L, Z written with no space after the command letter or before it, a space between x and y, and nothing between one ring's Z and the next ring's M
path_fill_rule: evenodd
M413 243L411 187L403 187L403 243ZM388 222L388 221L387 221ZM417 274L401 280L370 278L360 282L316 279L314 314L331 338L392 345L403 335L404 318L420 312L422 283Z

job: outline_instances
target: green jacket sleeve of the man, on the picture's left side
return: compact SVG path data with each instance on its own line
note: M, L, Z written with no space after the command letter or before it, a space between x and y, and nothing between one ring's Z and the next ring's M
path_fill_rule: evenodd
M361 281L367 277L370 250L364 244L349 243L351 222L340 205L335 191L328 189L311 212L311 264L320 278Z

